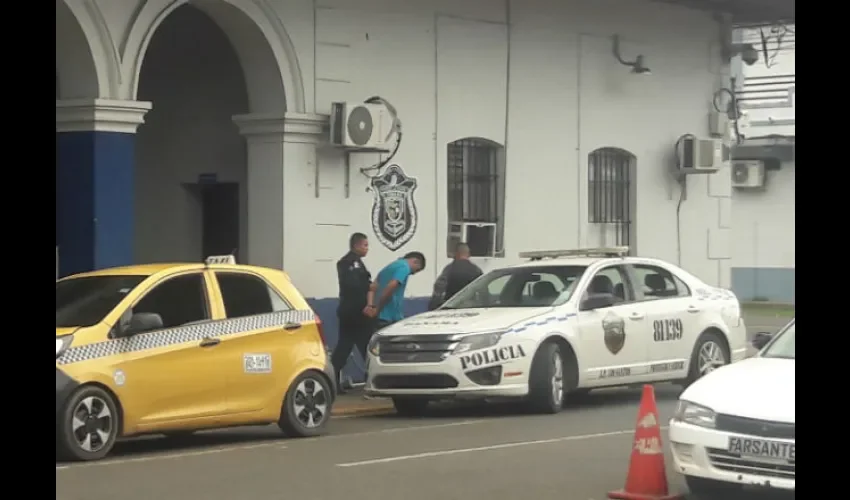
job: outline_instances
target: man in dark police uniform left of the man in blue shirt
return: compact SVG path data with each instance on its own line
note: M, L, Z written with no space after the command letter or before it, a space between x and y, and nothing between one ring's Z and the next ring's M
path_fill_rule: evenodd
M366 348L374 330L374 320L368 311L375 294L372 275L363 264L363 257L369 253L369 239L363 233L354 233L348 240L349 251L336 263L339 278L339 306L336 315L339 318L339 339L331 356L331 363L339 380L351 349L357 349L366 357Z

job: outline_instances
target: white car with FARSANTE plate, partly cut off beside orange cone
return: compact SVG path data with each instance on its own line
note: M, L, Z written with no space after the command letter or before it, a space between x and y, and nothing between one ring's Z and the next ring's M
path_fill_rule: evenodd
M756 357L715 371L680 396L670 447L695 495L720 498L744 485L794 490L794 324L772 339L758 334L753 345L764 347Z

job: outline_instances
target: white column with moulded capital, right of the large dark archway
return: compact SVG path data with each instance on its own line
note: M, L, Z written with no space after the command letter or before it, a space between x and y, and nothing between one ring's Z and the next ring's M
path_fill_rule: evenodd
M233 121L248 142L248 261L283 269L287 219L284 170L315 166L316 145L327 117L286 113L237 115Z

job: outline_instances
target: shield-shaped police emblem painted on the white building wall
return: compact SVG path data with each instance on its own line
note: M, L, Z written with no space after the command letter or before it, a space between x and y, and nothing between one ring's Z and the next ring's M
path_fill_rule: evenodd
M415 177L408 177L398 165L390 165L372 177L372 230L390 250L398 250L416 233Z

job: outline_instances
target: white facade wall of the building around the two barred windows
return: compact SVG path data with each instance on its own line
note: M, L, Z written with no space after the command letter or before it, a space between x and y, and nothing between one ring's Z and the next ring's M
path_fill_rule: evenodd
M150 17L135 18L139 2L93 3L119 58L121 48L138 38L133 33L150 28L138 25L152 22ZM419 227L396 253L374 242L367 265L376 272L400 253L420 250L429 259L428 269L411 280L407 293L429 294L447 262L446 144L474 136L504 145L507 154L506 257L483 259L483 267L517 262L523 250L596 244L598 235L586 222L587 155L611 146L637 157L638 251L680 260L707 282L729 286L728 171L689 179L678 235L678 185L669 176L676 139L707 133L712 93L728 76L712 17L625 0L509 4L251 2L252 9L271 20L264 33L279 37L273 46L288 68L282 73L289 111L324 114L332 101L373 95L385 97L399 111L404 139L393 163L419 181ZM615 34L622 39L625 58L646 56L651 76L631 75L614 59ZM122 60L118 66L126 77L134 64L139 62ZM250 70L252 65L243 60L243 67ZM292 83L286 75L298 75L299 81ZM134 98L126 80L113 85L114 95L108 97ZM296 97L290 94L293 87ZM376 156L352 155L347 182L343 157L327 146L287 145L281 152L269 142L250 144L247 217L249 224L261 220L270 228L249 235L251 254L282 249L280 261L305 295L335 296L333 261L345 251L347 236L353 231L371 234L372 194L365 191L368 180L359 169L375 163ZM281 161L279 181L251 180L252 175L276 179L275 164ZM261 171L265 177L259 177ZM275 201L282 205L282 217ZM252 208L260 206L263 210ZM278 227L281 220L284 229Z

